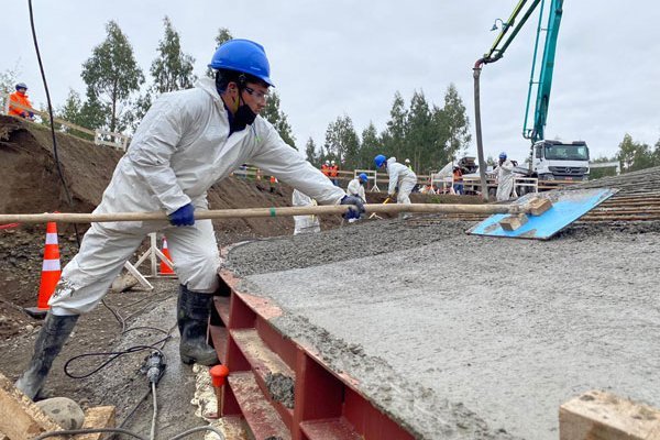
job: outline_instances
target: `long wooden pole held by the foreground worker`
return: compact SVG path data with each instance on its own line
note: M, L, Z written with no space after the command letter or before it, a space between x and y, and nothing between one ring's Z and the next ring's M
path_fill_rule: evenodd
M524 213L530 212L527 205L365 205L366 212L421 212L421 213ZM243 208L195 211L195 219L241 219L255 217L290 217L290 216L323 216L341 215L350 207L348 205L283 207L283 208ZM0 215L3 223L45 223L56 221L62 223L100 223L112 221L167 221L165 212L110 212L110 213L7 213Z

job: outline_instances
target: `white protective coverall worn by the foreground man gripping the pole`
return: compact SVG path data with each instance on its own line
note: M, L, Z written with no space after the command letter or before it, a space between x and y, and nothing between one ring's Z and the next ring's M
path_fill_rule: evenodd
M138 128L94 212L169 215L188 202L208 209L207 190L244 163L320 204L339 204L344 196L262 117L231 135L229 128L228 111L211 78L200 79L193 89L162 95ZM216 292L220 257L210 220L178 228L167 221L91 223L79 253L62 272L48 302L51 311L65 316L91 310L144 237L164 229L179 283L193 292Z

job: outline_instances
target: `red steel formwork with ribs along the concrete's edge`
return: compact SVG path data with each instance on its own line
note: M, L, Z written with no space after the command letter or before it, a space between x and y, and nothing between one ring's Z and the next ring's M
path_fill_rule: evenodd
M318 352L280 334L270 322L282 310L235 289L222 271L210 333L229 369L222 416L242 417L255 440L407 440L414 437L375 408L358 381L333 372ZM293 403L271 395L272 378L293 385Z

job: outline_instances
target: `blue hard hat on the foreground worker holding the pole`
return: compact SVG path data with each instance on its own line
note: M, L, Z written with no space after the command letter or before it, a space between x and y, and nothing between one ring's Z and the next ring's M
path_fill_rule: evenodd
M213 54L209 67L242 72L273 86L266 52L261 44L250 40L230 40L220 45Z

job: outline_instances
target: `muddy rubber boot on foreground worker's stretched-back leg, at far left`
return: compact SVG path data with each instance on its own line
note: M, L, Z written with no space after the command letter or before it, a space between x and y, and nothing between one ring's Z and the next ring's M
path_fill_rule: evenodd
M51 312L38 332L34 343L34 354L28 370L19 377L15 387L28 397L34 399L46 381L53 360L59 354L62 346L76 327L78 315L55 316Z

